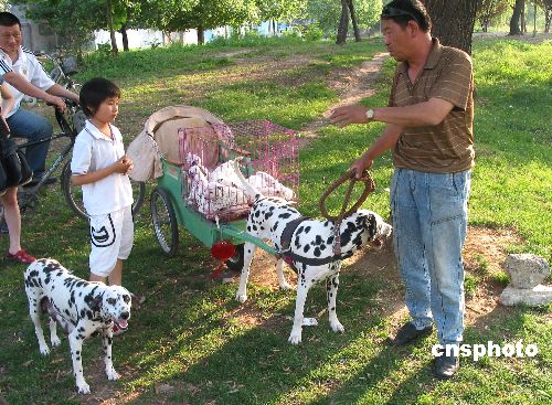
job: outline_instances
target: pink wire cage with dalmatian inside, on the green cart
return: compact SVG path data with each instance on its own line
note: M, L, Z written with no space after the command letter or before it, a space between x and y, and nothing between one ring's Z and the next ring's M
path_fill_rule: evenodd
M299 139L288 128L267 120L180 128L182 199L210 220L244 217L252 199L238 181L240 160L247 182L265 196L298 201Z

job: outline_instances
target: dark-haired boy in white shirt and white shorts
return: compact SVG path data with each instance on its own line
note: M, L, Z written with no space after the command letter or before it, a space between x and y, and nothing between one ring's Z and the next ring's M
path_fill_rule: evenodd
M93 78L81 89L81 106L88 117L78 134L71 161L71 180L82 185L89 216L91 281L121 285L123 262L134 242L132 189L128 173L132 160L125 156L123 136L113 125L120 90L105 78ZM117 331L114 330L114 333Z

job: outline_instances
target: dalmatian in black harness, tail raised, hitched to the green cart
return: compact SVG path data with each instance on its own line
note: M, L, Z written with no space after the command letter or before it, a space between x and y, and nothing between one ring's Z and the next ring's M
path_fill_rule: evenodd
M368 243L381 246L391 235L392 226L372 211L357 211L344 217L340 224L341 253L336 255L333 252L336 232L332 221L304 217L286 200L261 194L245 180L237 161L234 170L245 193L254 201L247 216L247 233L257 238L270 241L274 248L282 253L286 263L297 271L294 326L288 341L291 344L301 342L305 301L310 287L319 280L326 280L330 327L335 332L343 332L344 328L336 312L341 260L352 256L355 251ZM247 300L247 279L255 249L254 244L245 243L244 267L236 292L236 299L240 302ZM284 259L278 259L276 273L279 287L289 289L283 271Z

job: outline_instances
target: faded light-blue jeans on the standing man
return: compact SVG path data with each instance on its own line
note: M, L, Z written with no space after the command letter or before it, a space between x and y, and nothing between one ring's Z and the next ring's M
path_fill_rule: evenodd
M396 168L391 185L393 246L406 307L417 329L435 320L440 344L461 342L464 266L471 171Z

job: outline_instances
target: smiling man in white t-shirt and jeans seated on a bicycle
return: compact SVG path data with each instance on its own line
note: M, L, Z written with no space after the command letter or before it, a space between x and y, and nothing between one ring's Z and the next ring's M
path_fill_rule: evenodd
M65 103L60 97L78 104L78 95L53 82L34 54L21 46L21 42L19 19L10 12L0 12L0 74L12 86L15 97L15 106L7 121L12 136L38 141L50 138L53 127L41 115L21 108L23 97L41 98L63 110ZM50 141L45 141L26 148L26 160L33 170L33 180L28 185L39 183L44 175L49 147ZM50 182L55 182L55 179L47 179L46 183Z

